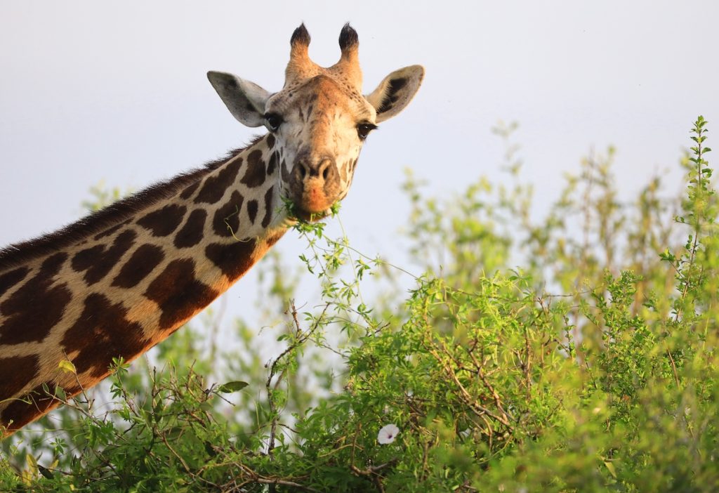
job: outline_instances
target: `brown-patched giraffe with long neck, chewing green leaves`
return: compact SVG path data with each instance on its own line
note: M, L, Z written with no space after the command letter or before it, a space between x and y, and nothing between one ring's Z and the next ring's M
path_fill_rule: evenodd
M424 69L400 68L362 95L357 32L329 68L290 38L285 84L208 78L240 123L267 134L37 239L0 250L0 436L132 361L239 280L298 219L326 216L352 183L377 124L402 111ZM63 361L74 372L64 372ZM50 392L47 392L50 390Z

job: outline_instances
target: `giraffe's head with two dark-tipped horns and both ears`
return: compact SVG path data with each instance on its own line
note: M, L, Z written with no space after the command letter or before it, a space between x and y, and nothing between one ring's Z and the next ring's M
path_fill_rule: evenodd
M424 75L420 65L400 68L362 96L357 32L345 24L342 55L329 68L310 60L304 24L290 40L285 86L270 93L229 73L208 78L232 115L247 126L266 126L280 162L280 195L301 218L321 217L347 195L367 134L411 101Z

